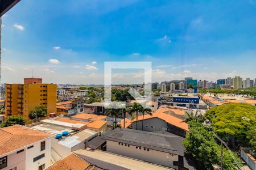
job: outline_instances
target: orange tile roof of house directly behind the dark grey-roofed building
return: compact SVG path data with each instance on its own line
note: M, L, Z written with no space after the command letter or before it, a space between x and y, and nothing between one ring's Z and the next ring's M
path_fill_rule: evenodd
M164 112L168 112L168 111L174 111L175 109L169 109L169 108L160 108L157 111L155 111L154 113L152 113L152 116L150 116L149 114L145 114L144 115L144 120L146 119L150 119L150 118L155 118L158 117L164 121L166 121L168 124L177 126L178 128L184 129L186 131L188 131L188 124L183 122L183 120L181 120L180 118L177 118L175 116L172 116L170 114L164 113ZM176 110L179 111L179 110ZM139 121L142 120L142 116L139 116ZM136 119L132 120L131 122L135 122Z

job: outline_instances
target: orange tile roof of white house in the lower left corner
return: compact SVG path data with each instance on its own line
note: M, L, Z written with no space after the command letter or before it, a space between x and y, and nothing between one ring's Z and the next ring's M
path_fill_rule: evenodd
M42 141L53 135L27 128L26 126L14 125L0 129L0 155L18 150L32 143Z

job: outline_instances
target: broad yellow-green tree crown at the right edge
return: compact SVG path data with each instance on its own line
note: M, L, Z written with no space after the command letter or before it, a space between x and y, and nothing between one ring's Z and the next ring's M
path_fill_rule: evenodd
M205 113L214 131L222 139L232 135L242 146L256 150L256 107L246 103L230 103L213 107Z

